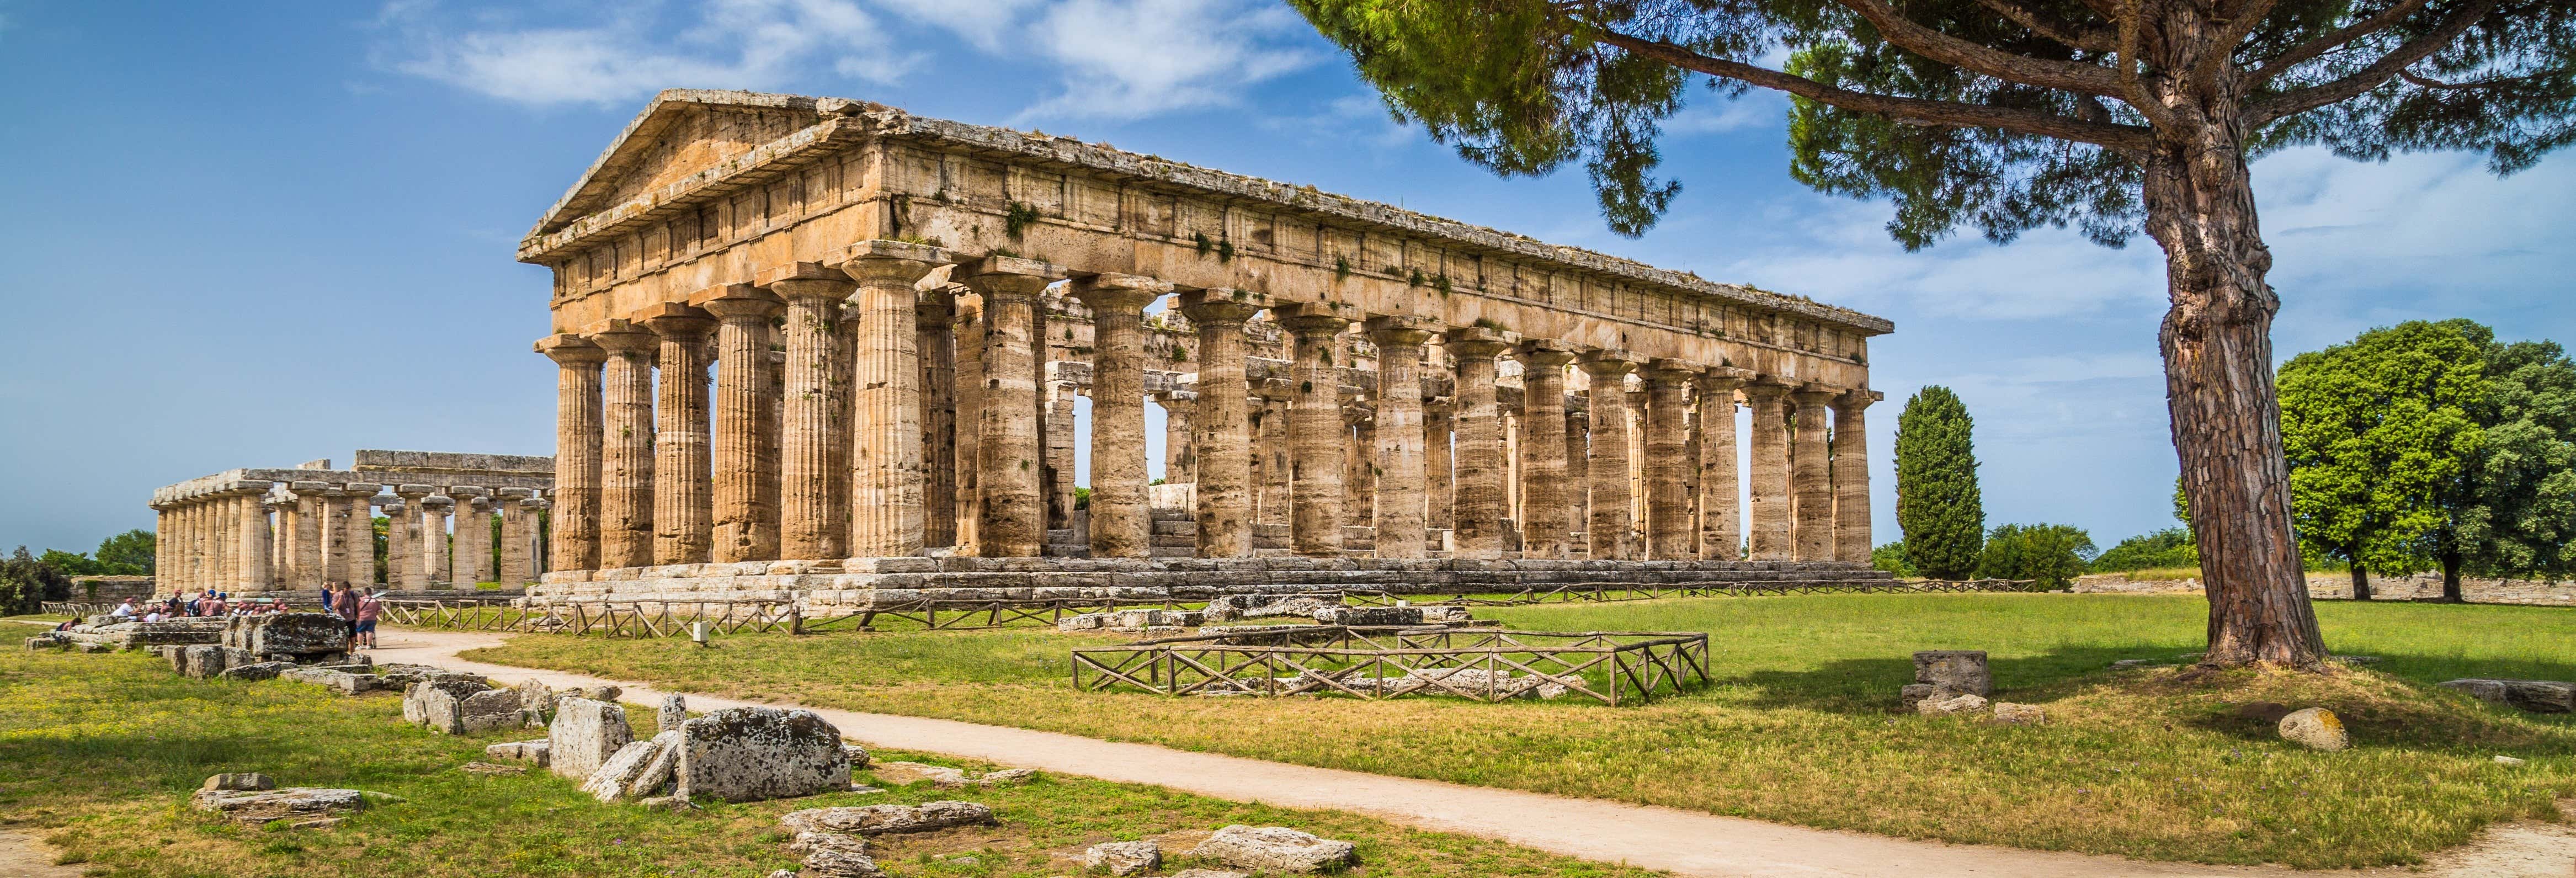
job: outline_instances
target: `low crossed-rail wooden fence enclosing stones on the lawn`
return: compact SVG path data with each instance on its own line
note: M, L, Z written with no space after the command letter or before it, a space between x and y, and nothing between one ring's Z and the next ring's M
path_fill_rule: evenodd
M1164 695L1352 695L1468 700L1584 695L1646 703L1708 682L1698 631L1492 631L1303 626L1074 649L1074 687Z

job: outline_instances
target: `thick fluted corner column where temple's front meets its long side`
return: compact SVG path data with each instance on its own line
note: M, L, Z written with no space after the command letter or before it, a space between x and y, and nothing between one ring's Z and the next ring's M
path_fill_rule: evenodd
M920 291L948 250L868 239L835 257L858 291L858 348L850 394L850 556L922 554L922 350Z

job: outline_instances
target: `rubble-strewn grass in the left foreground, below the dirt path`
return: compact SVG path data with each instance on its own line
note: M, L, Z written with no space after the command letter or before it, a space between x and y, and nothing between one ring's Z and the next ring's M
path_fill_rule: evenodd
M793 865L778 814L966 798L989 803L1002 824L884 839L878 863L894 875L1066 875L1079 873L1079 860L1064 855L1079 857L1095 842L1164 837L1167 850L1185 850L1193 834L1224 824L1280 824L1355 842L1368 875L1649 875L1352 814L1074 778L708 803L690 814L603 806L546 772L456 770L479 760L487 742L536 731L438 736L399 716L402 703L389 693L337 698L299 682L183 680L142 654L8 651L0 654L0 824L39 827L64 863L90 875L765 875ZM644 726L639 736L652 731L652 711L629 718ZM404 801L335 829L286 832L234 827L185 806L206 775L245 770L281 785L345 785Z

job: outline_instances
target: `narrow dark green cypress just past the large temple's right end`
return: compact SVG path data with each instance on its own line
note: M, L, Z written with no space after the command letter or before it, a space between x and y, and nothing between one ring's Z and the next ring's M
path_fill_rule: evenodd
M1896 528L1906 533L1906 566L1929 579L1968 579L1986 546L1973 427L1968 404L1937 384L1896 415Z

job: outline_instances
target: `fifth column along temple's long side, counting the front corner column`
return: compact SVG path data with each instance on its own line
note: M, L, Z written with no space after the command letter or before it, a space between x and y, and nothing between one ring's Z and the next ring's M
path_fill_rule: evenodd
M1342 554L1342 368L1334 350L1352 312L1332 304L1283 304L1273 312L1291 335L1288 397L1288 546L1301 556Z

